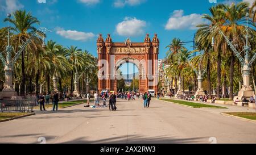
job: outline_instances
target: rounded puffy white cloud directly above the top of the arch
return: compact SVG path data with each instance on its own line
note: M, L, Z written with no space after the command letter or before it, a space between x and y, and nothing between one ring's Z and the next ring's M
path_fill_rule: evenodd
M117 24L116 31L120 36L138 36L144 33L144 27L146 27L145 21L126 17L121 23Z

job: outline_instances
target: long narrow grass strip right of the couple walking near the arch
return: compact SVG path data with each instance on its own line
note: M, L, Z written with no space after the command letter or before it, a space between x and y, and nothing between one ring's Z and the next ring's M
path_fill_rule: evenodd
M193 108L226 108L226 107L220 107L220 106L212 106L212 105L208 105L208 104L187 102L187 101L183 101L183 100L173 100L173 99L160 99L160 100L177 103L177 104L183 104L185 106L191 106Z

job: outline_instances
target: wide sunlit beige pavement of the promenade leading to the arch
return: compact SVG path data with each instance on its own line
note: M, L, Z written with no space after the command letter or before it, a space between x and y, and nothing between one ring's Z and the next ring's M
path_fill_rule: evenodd
M221 105L218 105L221 106ZM117 111L84 104L0 123L0 143L256 143L256 124L160 100L119 100ZM232 109L233 108L233 109Z

